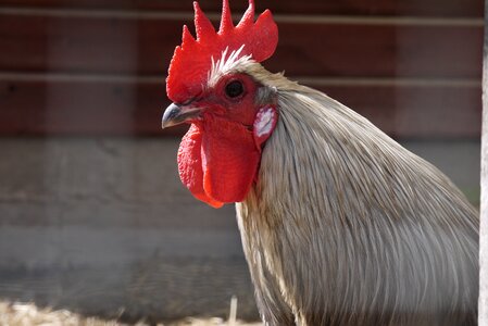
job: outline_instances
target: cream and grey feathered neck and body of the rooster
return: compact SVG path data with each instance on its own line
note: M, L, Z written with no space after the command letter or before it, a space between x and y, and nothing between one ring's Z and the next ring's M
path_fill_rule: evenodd
M235 71L274 97L258 183L237 203L268 325L476 325L478 213L436 167L327 96Z

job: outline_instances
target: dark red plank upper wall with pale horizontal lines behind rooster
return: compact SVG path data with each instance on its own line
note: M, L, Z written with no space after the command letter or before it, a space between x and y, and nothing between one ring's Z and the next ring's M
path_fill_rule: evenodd
M230 1L236 20L247 7ZM481 0L258 1L264 63L398 138L477 138ZM218 20L220 1L201 1ZM191 0L1 0L0 135L165 135L164 79Z

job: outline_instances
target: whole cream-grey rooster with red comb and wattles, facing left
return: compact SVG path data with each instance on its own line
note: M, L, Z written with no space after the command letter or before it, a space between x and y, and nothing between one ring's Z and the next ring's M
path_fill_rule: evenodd
M478 215L436 167L326 95L266 71L278 41L249 1L216 32L197 2L163 128L190 127L183 184L236 203L266 325L476 325Z

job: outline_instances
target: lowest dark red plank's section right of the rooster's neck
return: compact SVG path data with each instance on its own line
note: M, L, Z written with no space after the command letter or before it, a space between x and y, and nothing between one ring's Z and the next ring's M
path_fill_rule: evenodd
M481 90L476 87L320 87L396 138L478 138Z

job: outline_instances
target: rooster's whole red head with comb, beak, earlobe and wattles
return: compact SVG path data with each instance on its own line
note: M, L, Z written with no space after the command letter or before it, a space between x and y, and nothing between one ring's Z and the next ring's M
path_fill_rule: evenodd
M191 124L178 150L179 177L196 198L220 208L246 198L277 122L276 106L259 100L262 85L238 67L270 58L278 32L268 10L254 22L253 0L237 26L224 0L218 32L193 7L197 38L184 26L168 68L173 103L162 126Z

